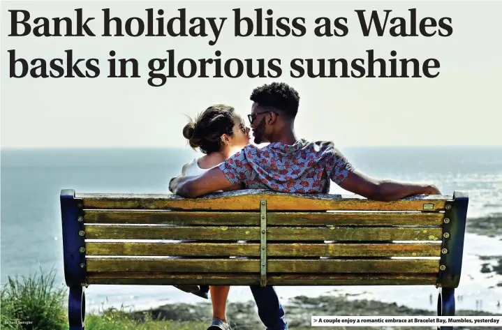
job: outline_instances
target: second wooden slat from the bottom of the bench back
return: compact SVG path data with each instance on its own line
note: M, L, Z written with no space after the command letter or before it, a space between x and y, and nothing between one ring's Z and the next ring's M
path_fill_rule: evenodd
M88 257L87 271L259 273L260 260ZM439 260L267 260L267 273L437 273Z

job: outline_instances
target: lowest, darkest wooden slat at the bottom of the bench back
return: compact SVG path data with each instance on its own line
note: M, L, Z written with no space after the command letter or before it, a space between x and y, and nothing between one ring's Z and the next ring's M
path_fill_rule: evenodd
M89 284L258 285L259 274L242 273L95 273ZM434 285L437 274L285 274L267 276L270 285Z

